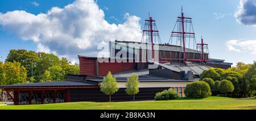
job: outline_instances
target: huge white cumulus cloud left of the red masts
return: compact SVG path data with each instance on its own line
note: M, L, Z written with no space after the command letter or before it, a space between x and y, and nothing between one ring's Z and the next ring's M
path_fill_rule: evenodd
M0 26L23 40L32 40L38 51L77 60L77 55L97 56L97 45L118 40L140 41L140 18L125 14L122 24L110 24L93 0L77 0L64 8L53 7L45 14L26 11L0 12Z

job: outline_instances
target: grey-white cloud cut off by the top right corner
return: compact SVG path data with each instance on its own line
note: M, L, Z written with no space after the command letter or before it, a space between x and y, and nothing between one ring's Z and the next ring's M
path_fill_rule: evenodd
M256 26L256 0L240 0L234 16L239 23Z

